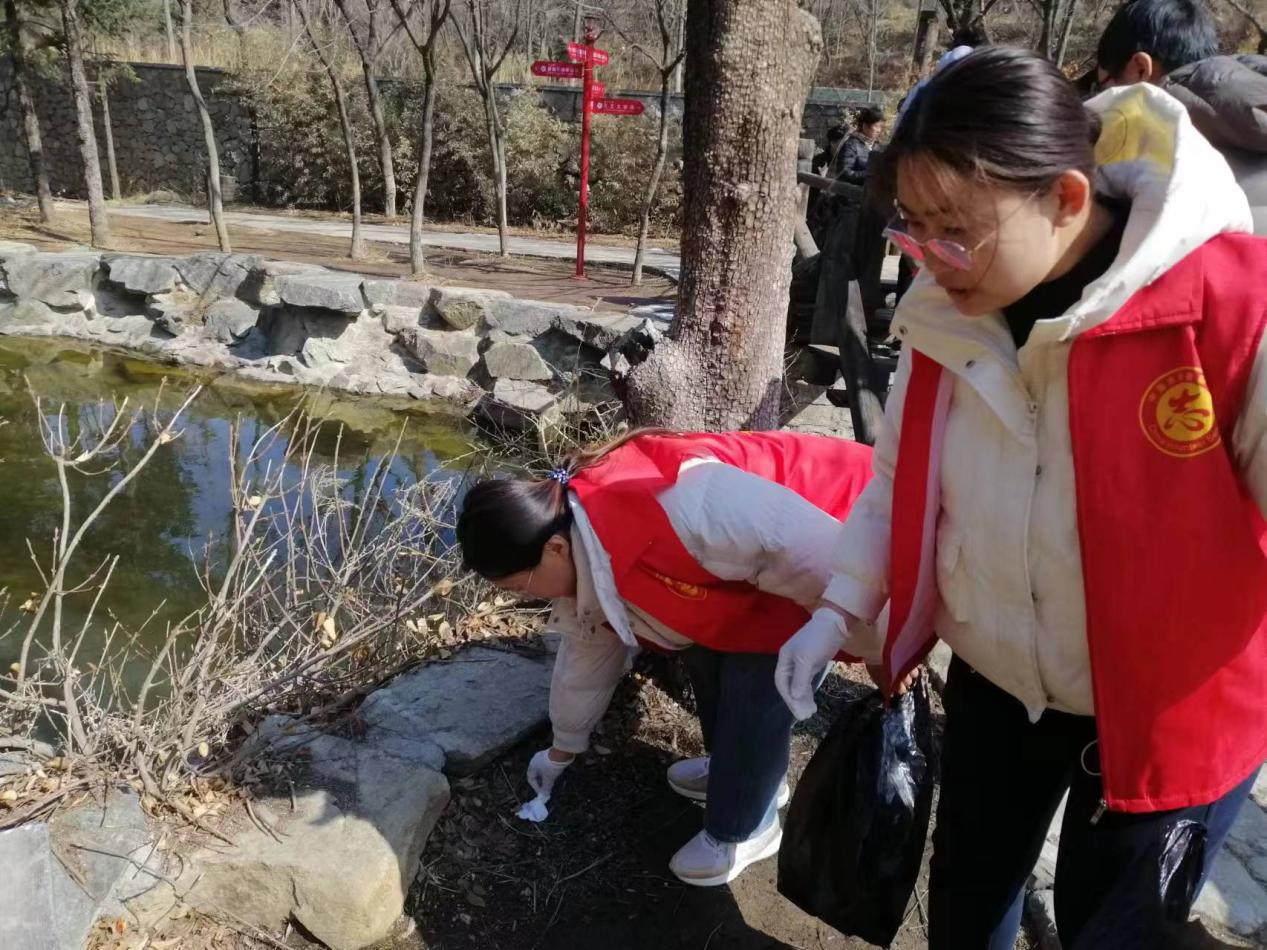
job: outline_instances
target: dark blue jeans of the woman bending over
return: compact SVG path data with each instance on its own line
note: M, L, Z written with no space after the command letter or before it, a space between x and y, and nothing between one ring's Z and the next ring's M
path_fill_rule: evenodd
M693 646L683 659L712 756L704 830L718 841L746 841L778 820L792 750L792 713L774 688L778 657Z

